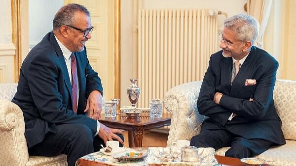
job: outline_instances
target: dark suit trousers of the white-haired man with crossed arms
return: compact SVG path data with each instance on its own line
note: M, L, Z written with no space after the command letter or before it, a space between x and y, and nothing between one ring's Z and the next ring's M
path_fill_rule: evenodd
M191 146L213 147L215 150L230 146L225 156L234 158L254 157L267 150L273 143L264 139L246 139L224 129L202 130L190 140Z

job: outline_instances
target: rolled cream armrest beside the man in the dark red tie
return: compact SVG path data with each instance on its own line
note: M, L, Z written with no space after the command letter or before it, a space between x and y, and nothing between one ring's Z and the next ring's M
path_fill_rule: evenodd
M0 161L7 166L24 166L29 160L22 110L0 99Z

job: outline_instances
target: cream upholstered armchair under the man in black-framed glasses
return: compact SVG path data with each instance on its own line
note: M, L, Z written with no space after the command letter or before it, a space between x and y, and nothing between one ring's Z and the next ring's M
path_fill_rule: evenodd
M17 83L0 83L0 166L67 166L67 156L29 156L22 110L11 102Z

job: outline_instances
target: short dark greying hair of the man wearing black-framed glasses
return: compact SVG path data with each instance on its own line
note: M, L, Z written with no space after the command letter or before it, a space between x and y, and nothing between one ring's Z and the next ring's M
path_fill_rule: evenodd
M90 13L84 6L76 3L70 3L62 8L56 13L53 19L53 30L59 29L63 25L74 25L74 13L80 11L85 13L90 17Z

